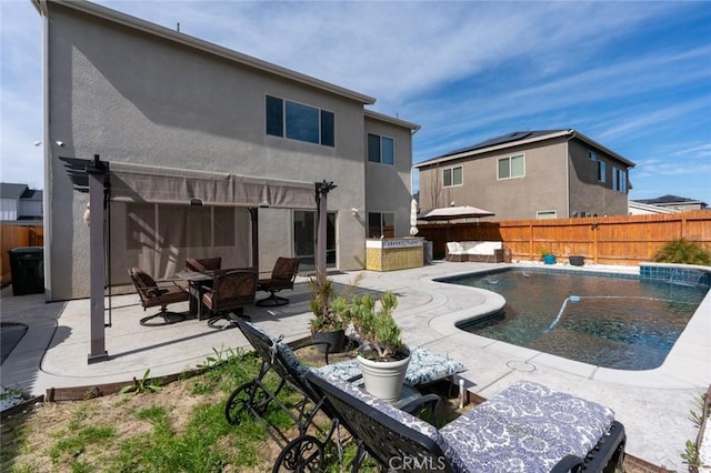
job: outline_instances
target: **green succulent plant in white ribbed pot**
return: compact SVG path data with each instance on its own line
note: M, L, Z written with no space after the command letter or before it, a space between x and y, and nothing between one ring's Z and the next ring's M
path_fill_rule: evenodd
M361 339L357 360L365 391L385 401L400 397L410 363L410 350L392 318L397 306L395 294L385 292L378 302L370 294L354 296L349 309L353 329Z

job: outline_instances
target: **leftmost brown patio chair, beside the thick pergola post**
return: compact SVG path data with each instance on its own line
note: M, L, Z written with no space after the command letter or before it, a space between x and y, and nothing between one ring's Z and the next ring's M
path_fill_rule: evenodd
M141 298L141 305L143 305L143 310L160 306L160 312L141 319L141 325L156 325L149 322L158 316L163 319L163 324L186 320L184 314L168 312L167 310L169 304L188 300L189 294L184 288L178 285L174 281L167 281L158 284L151 275L140 268L131 268L129 270L129 275L131 276L131 281L136 286L139 298Z

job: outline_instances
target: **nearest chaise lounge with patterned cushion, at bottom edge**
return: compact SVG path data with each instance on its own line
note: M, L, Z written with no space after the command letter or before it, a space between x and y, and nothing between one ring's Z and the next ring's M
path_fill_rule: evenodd
M341 380L307 378L385 470L602 472L622 465L624 427L610 409L540 384L515 383L438 430Z

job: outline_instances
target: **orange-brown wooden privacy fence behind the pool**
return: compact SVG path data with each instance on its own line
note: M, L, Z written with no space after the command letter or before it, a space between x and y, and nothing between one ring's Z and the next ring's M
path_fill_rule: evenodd
M711 250L711 211L659 215L583 219L509 220L503 222L418 223L418 236L432 241L435 258L447 241L502 241L514 260L540 260L542 250L560 259L584 256L600 264L652 261L665 242L679 238Z

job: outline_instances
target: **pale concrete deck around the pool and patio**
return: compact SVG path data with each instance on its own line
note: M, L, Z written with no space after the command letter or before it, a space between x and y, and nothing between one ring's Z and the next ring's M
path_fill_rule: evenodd
M530 265L531 263L529 263ZM530 380L612 407L627 430L627 451L658 466L682 471L681 453L697 429L689 420L694 397L711 384L711 293L707 295L664 363L649 371L619 371L591 366L529 349L497 342L454 326L487 313L502 299L474 288L443 284L434 279L511 264L450 263L397 271L357 271L330 275L372 291L399 296L395 318L410 345L427 345L462 361L467 388L490 397L519 380ZM574 269L565 265L567 269ZM587 265L579 271L637 273L637 266ZM300 279L300 281L304 281ZM271 333L297 340L309 334L309 291L297 284L280 308L249 308L252 320ZM168 326L141 326L146 315L136 294L112 298L107 328L106 362L88 364L89 301L46 303L42 294L12 296L2 290L0 321L24 323L28 331L2 363L1 383L26 393L44 394L50 388L74 388L180 373L203 363L214 350L248 348L237 330L216 331L206 321L189 319ZM171 305L186 310L187 303Z

